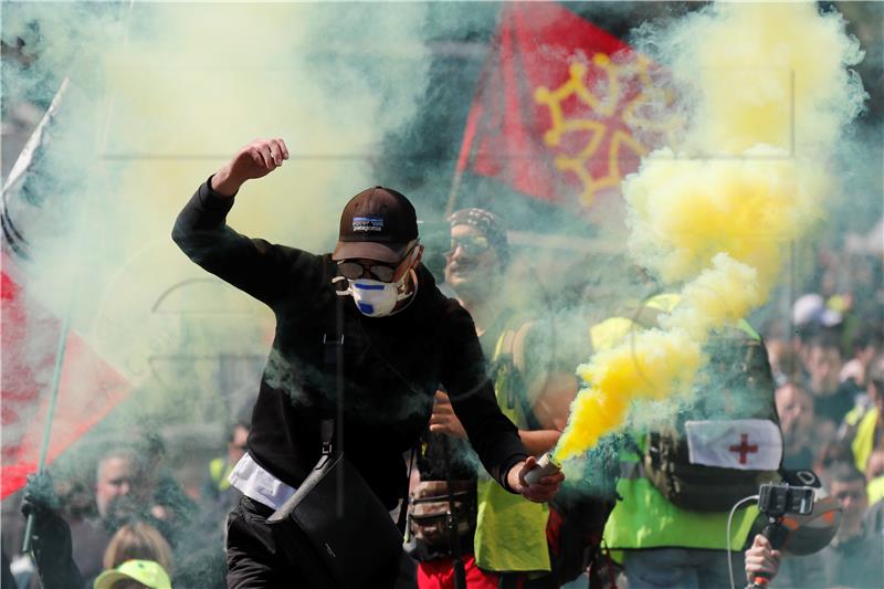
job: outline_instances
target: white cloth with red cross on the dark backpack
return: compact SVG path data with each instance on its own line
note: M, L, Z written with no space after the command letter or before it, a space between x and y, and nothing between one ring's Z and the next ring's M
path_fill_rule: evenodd
M687 421L687 450L692 464L776 471L782 460L782 434L766 419Z

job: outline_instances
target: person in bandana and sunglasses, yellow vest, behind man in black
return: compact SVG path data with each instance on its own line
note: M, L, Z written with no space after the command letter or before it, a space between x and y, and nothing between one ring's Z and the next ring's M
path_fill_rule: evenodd
M577 393L576 362L558 362L550 353L554 346L545 345L544 327L508 307L502 290L509 248L496 217L482 209L464 209L451 215L450 222L445 284L473 317L502 411L518 427L528 452L543 454L555 446L567 422ZM550 575L547 505L508 496L484 472L474 474L471 466L476 462L463 452L464 441L464 429L448 396L439 391L419 456L421 483L412 492L418 586L455 587L460 556L469 589L511 583L558 587ZM433 529L439 514L452 505L459 516L456 538ZM459 546L452 547L452 541Z

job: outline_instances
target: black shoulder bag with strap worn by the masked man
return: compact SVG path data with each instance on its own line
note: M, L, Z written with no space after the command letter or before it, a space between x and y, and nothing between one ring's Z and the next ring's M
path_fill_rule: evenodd
M344 383L338 370L344 335L339 305L336 323L335 340L324 337L325 365L334 370L330 374L341 399ZM284 537L281 544L286 557L298 562L309 587L376 586L379 572L396 567L396 557L402 553L402 532L359 471L334 448L336 419L329 406L327 400L322 404L319 461L267 523ZM338 423L341 409L339 406ZM401 512L404 514L404 505Z

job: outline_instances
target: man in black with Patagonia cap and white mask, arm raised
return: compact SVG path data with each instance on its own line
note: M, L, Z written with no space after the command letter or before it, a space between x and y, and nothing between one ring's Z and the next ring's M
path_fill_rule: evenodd
M249 144L200 186L172 232L191 260L276 316L249 452L231 474L243 493L228 520L232 587L290 586L297 578L298 562L278 556L266 517L319 459L320 406L329 401L343 411L338 448L388 508L404 495L402 455L427 427L440 385L504 488L544 502L562 480L525 484L536 462L497 407L470 315L439 292L420 264L417 215L404 196L376 187L354 197L332 254L249 239L225 224L240 187L287 157L282 139ZM324 341L340 336L344 361L337 376L328 375Z

